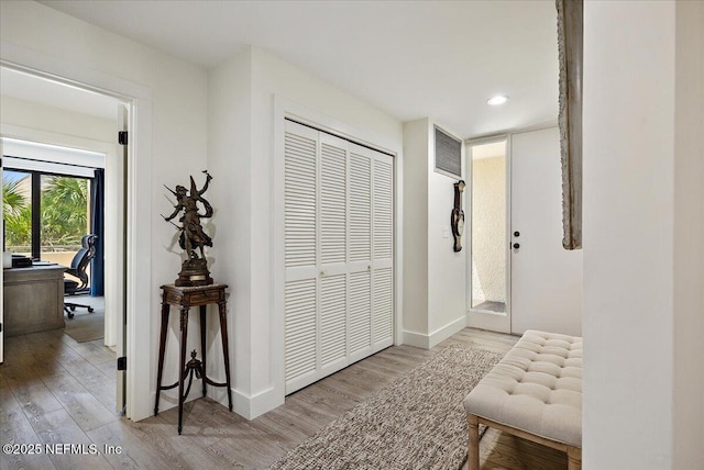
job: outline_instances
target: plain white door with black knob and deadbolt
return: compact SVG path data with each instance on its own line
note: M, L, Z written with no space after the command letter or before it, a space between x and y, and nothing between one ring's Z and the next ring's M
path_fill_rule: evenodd
M557 127L510 138L512 333L581 335L582 250L562 248Z

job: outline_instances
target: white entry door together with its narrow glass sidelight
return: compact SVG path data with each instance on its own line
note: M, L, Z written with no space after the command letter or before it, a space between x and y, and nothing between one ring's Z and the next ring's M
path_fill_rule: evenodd
M562 247L557 126L471 141L468 325L581 334L582 251Z

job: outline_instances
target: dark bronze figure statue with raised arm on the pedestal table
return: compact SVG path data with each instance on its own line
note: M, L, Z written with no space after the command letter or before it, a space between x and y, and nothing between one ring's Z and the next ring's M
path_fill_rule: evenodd
M212 216L212 206L202 197L208 190L210 180L212 177L208 171L206 174L206 183L201 189L196 187L194 177L190 177L190 191L183 186L177 186L176 190L168 189L172 194L176 197L176 205L174 205L174 212L170 215L162 215L166 222L170 222L176 215L183 213L178 219L180 225L175 224L176 228L180 231L178 236L178 245L186 251L186 259L182 265L182 270L178 273L175 284L183 286L207 286L213 282L208 271L208 261L206 260L206 254L204 248L206 246L212 246L212 239L206 234L200 225L200 220ZM205 212L200 212L200 203ZM198 254L200 253L200 256Z

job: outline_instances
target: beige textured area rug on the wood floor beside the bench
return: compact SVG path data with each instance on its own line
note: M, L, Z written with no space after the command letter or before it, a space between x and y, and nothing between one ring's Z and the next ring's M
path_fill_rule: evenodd
M459 469L466 458L462 401L502 358L453 345L360 403L272 469Z

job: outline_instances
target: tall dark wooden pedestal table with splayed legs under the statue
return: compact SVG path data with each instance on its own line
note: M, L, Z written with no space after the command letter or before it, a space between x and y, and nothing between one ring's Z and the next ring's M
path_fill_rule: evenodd
M202 395L206 396L207 385L226 387L228 390L228 404L232 411L232 390L230 388L230 352L228 346L228 318L227 301L224 290L227 284L209 284L197 287L177 287L174 284L162 286L162 331L158 343L158 369L156 372L156 401L154 403L154 415L158 414L158 399L162 390L169 390L178 387L178 434L183 429L184 423L184 401L190 392L193 376L202 379ZM206 374L206 310L209 304L218 304L218 315L220 316L220 337L222 338L222 354L224 356L224 383L213 382ZM170 305L179 307L180 311L180 355L178 381L170 385L162 385L164 371L164 350L166 347L166 333L168 331L168 314ZM196 359L196 351L191 352L191 359L186 363L186 344L188 339L188 312L191 306L200 307L200 354L202 361ZM184 392L186 379L188 387Z

